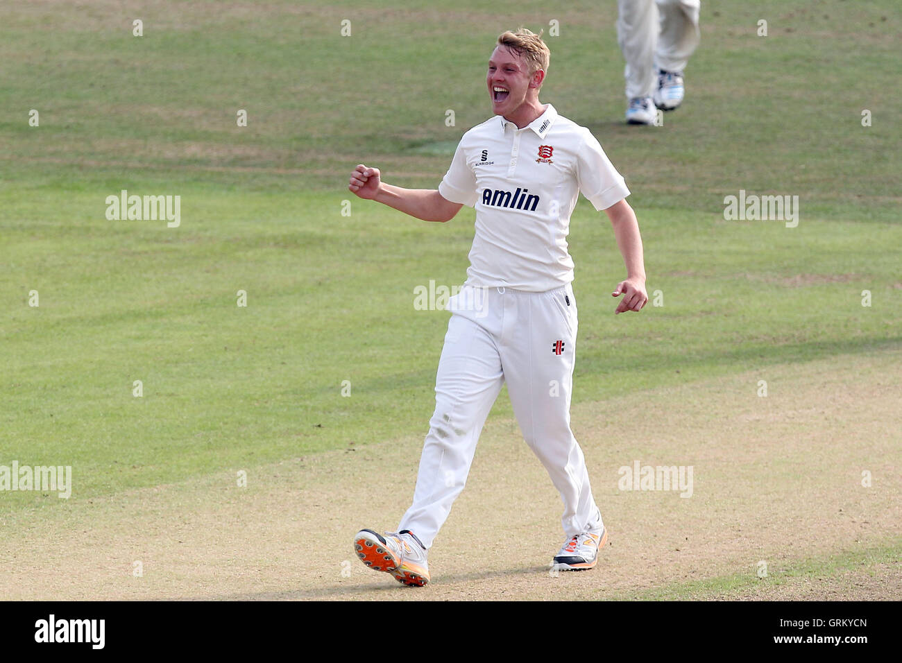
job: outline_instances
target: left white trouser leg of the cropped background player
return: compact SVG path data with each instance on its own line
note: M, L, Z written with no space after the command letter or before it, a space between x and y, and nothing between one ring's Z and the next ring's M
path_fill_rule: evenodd
M626 97L651 97L657 82L654 60L660 27L655 0L618 0L617 11L617 42L626 60Z

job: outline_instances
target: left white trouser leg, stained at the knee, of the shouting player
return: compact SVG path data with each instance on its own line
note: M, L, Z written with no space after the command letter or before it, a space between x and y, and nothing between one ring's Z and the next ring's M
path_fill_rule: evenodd
M482 322L491 328L492 316ZM502 382L492 335L473 319L451 316L438 363L436 410L419 459L413 503L398 526L410 529L426 548L464 489L476 441Z

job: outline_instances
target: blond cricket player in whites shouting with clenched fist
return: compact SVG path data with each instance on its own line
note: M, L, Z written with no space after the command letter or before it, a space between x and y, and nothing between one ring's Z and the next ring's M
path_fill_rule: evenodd
M566 236L580 191L611 219L626 263L612 292L623 298L615 313L639 311L649 298L623 178L588 129L538 100L549 57L540 34L521 28L498 38L485 77L494 116L464 134L437 190L391 186L364 164L348 184L360 198L426 221L449 221L464 205L476 210L467 278L448 303L413 502L397 531L354 537L364 564L404 585L429 581L428 548L464 488L504 382L523 437L564 502L566 540L552 568L593 568L607 539L570 429L577 320Z

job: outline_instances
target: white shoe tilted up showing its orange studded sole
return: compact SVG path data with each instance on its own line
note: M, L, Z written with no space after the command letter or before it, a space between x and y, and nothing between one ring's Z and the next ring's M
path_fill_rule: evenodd
M401 585L422 587L429 582L426 547L410 529L385 536L361 529L354 537L354 550L366 566L390 573Z

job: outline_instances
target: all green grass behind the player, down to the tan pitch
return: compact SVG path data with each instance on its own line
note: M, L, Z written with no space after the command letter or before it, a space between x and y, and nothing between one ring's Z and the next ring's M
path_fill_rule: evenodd
M436 186L489 112L498 32L551 18L543 100L627 177L664 298L612 316L621 259L582 201L577 401L897 348L902 17L890 1L822 5L704 7L686 106L646 130L621 124L613 2L524 3L503 21L475 2L7 9L0 465L73 465L83 499L425 434L446 314L414 310L413 289L464 280L473 212L425 224L354 198L342 216L347 174L367 161ZM180 195L181 226L106 221L120 189ZM739 189L798 195L799 226L724 221ZM496 411L510 414L503 395ZM50 499L4 493L0 513Z

